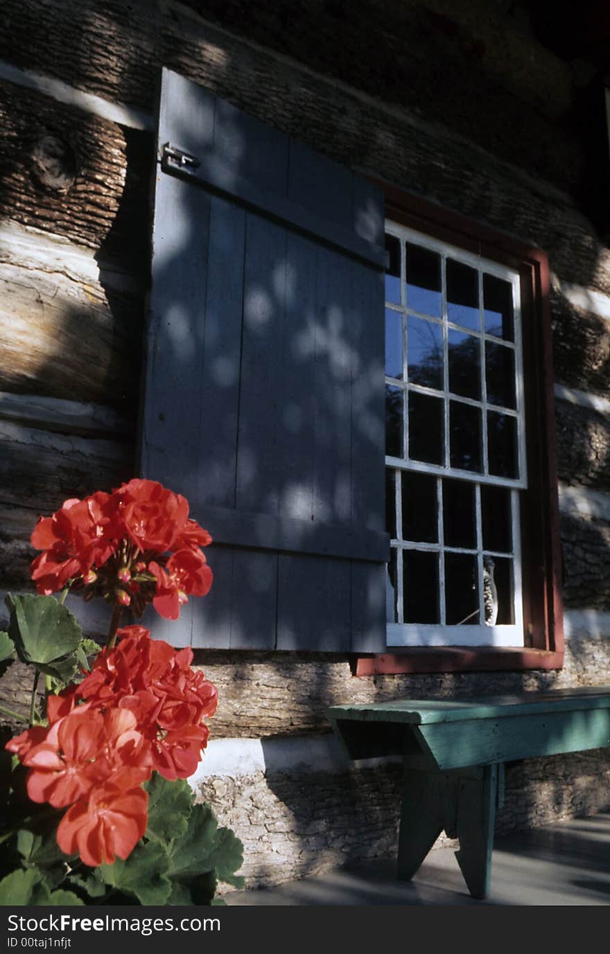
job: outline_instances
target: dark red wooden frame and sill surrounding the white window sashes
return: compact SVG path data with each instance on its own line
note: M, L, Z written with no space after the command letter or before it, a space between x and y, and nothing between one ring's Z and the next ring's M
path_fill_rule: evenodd
M551 670L563 665L561 544L549 304L544 252L386 183L386 218L518 271L523 310L523 371L528 489L521 504L524 647L421 647L358 655L358 676L491 670Z

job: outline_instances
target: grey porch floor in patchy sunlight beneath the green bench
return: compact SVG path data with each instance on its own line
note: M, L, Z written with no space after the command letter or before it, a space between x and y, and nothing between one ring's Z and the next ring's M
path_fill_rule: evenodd
M452 848L431 851L412 881L391 861L232 892L227 904L610 904L610 811L496 838L492 890L470 897Z

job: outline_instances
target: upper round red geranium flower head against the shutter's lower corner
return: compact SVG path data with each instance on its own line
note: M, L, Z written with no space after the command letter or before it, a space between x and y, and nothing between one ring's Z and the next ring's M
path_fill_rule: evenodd
M65 501L32 531L32 547L42 550L32 562L36 590L101 595L137 616L152 602L161 616L178 619L188 596L204 596L212 585L201 552L212 537L188 513L179 493L137 478L112 493Z

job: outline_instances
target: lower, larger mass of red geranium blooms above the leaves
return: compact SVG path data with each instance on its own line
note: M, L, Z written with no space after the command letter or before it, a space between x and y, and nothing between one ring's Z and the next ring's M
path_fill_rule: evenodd
M188 778L208 738L216 687L191 669L190 649L128 626L92 672L47 701L48 727L34 726L7 749L29 768L28 795L68 810L57 830L67 855L85 864L126 859L146 831L142 782L157 770Z

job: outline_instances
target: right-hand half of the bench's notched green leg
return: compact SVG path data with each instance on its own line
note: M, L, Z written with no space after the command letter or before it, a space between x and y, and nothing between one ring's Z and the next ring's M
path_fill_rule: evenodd
M487 898L492 880L497 766L480 769L481 778L460 778L457 790L455 858L473 898Z

